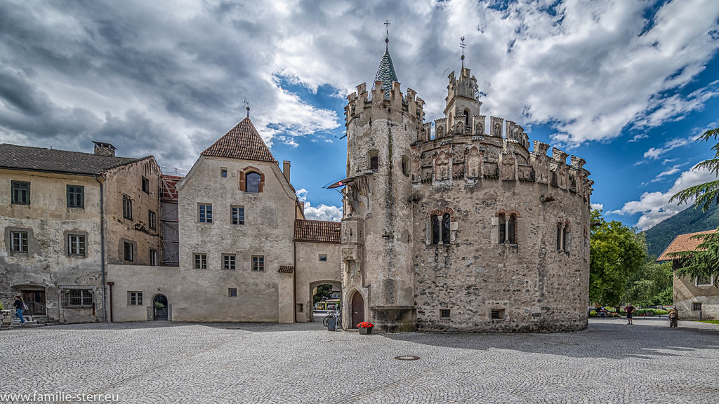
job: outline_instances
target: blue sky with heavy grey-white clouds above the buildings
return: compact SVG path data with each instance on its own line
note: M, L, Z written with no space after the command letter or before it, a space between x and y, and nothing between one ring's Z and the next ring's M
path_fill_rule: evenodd
M646 229L669 196L713 178L695 142L719 126L719 1L0 2L0 142L155 155L189 168L250 118L317 219L344 175L343 109L384 51L440 117L466 65L482 113L587 160L592 201Z

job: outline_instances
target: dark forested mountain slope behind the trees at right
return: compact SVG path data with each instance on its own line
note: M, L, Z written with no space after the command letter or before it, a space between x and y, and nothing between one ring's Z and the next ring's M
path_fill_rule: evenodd
M690 206L669 219L664 219L664 221L659 222L651 229L644 231L649 255L659 257L659 254L679 234L713 230L718 226L719 206L713 206L713 208L703 213L701 208L695 209Z

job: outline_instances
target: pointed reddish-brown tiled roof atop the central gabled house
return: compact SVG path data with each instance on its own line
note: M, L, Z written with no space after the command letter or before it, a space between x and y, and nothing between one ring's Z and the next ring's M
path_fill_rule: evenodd
M249 118L242 119L239 124L229 129L226 134L200 154L240 160L277 162Z

